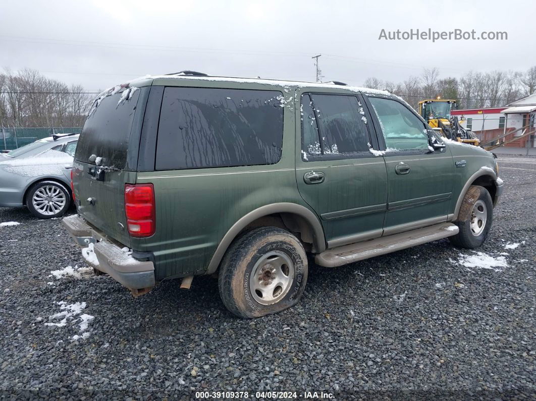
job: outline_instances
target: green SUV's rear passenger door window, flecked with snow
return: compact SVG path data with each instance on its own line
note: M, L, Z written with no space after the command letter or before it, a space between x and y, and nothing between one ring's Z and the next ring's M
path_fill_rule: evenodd
M368 152L367 120L357 97L302 96L302 158Z

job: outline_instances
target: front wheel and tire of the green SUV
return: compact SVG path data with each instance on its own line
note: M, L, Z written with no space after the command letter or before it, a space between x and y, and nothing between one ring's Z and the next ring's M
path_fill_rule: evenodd
M460 231L449 240L460 248L477 248L488 238L492 221L492 197L486 188L471 185L461 202L458 219L454 222Z

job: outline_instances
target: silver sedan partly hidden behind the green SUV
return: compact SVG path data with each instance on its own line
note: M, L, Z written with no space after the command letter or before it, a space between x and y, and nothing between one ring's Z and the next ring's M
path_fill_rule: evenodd
M71 168L79 134L59 134L0 154L0 207L27 206L39 218L71 205Z

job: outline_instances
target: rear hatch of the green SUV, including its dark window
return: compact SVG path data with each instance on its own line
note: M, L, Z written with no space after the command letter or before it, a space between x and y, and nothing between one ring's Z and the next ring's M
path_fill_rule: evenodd
M79 213L129 247L124 188L136 182L139 133L149 89L127 86L101 95L86 119L73 163Z

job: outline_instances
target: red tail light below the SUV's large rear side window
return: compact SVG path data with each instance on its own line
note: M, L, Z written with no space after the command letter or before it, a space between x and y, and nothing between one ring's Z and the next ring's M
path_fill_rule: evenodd
M126 227L132 237L151 237L156 229L153 184L125 185Z

